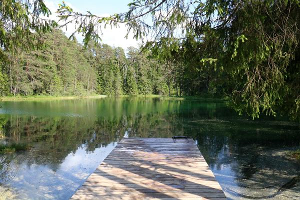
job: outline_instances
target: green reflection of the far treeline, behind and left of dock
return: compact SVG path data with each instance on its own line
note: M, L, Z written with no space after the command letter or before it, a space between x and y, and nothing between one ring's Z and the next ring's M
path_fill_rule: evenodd
M179 113L186 106L181 101L158 98L107 98L100 103L98 100L20 102L17 105L26 113L37 110L36 115L6 116L3 132L9 142L32 146L28 152L30 159L26 160L28 165L48 164L53 170L78 147L92 152L117 141L125 131L129 136L143 137L171 137L178 131L183 132L179 119L183 116ZM196 109L190 103L187 106L188 110ZM80 115L66 116L59 114L61 112Z

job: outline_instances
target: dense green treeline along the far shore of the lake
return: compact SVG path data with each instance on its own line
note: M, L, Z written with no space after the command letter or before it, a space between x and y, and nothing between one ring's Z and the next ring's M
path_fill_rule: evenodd
M90 41L83 47L59 29L38 37L43 46L4 51L0 95L193 95L205 91L197 73L161 63L149 51Z

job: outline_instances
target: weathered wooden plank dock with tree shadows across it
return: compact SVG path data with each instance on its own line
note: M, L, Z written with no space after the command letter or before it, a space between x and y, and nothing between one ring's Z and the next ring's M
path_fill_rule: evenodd
M192 139L123 138L70 199L226 199Z

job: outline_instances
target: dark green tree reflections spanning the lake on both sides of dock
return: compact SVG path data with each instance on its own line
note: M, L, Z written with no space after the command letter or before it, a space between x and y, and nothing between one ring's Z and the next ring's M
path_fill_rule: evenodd
M45 113L6 117L4 134L9 141L33 146L28 152L28 165L48 164L53 170L78 147L92 152L118 141L127 131L130 137L193 137L211 167L231 164L239 178L250 178L259 170L261 149L297 145L300 141L297 126L267 119L249 121L222 103L137 97L20 105ZM59 114L69 112L79 114ZM287 130L291 130L289 134Z

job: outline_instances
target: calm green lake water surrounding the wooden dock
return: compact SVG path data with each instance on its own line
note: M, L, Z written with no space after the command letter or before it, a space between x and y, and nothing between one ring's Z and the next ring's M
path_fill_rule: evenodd
M103 98L1 102L1 142L31 149L0 155L7 199L67 199L124 135L194 138L228 199L300 199L299 125L251 120L222 102Z

